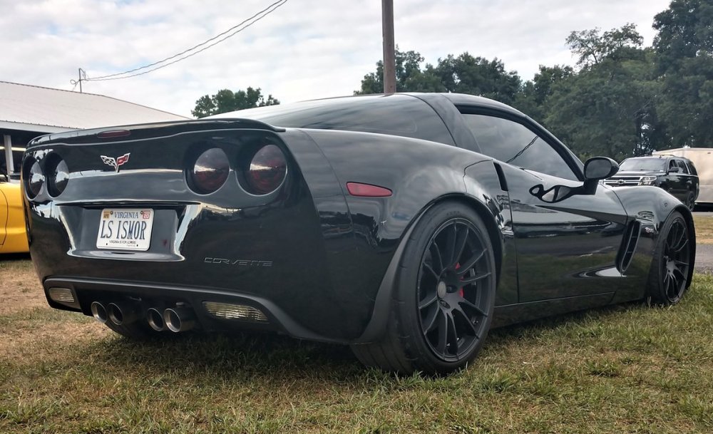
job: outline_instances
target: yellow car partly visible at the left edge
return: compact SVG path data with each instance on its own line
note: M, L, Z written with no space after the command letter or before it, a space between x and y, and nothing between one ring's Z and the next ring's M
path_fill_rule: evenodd
M0 254L29 252L20 183L0 174Z

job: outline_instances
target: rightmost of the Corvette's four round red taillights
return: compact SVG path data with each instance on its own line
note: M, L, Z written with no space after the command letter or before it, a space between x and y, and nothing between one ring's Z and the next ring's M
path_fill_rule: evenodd
M287 161L277 145L265 145L252 156L245 174L247 189L254 195L267 195L282 185Z

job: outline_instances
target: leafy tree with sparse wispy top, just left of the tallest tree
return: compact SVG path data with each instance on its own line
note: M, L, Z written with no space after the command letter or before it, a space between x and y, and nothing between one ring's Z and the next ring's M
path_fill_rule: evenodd
M553 83L545 123L581 157L645 155L662 135L655 111L652 51L632 25L572 32L580 71Z

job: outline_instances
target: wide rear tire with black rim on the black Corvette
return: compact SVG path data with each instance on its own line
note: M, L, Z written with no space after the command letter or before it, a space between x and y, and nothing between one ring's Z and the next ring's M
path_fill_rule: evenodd
M406 240L384 336L352 351L384 371L458 371L483 346L495 292L495 257L483 220L461 203L438 204Z

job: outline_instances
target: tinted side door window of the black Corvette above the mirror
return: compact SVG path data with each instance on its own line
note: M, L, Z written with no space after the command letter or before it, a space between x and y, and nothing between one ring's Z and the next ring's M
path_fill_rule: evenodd
M523 169L577 180L563 157L525 125L488 115L463 114L483 154Z

